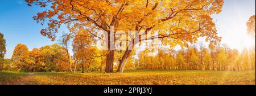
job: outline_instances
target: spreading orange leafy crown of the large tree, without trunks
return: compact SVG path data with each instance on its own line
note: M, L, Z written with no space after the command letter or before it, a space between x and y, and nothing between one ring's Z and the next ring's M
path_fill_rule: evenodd
M68 24L71 28L80 29L81 25L85 27L95 27L97 29L109 30L102 27L106 22L109 26L115 15L118 22L118 30L147 29L163 30L166 33L170 31L170 37L177 37L177 40L184 42L194 42L200 36L211 38L210 40L220 39L217 37L215 25L210 18L212 14L218 14L221 11L223 0L210 1L58 1L46 2L38 0L27 0L35 5L44 5L52 3L51 8L54 11L47 10L39 13L35 20L38 22L57 16L56 20L49 20L47 30L42 34L54 40L57 26ZM125 6L122 5L125 3ZM178 6L179 5L179 6ZM57 14L60 12L61 14ZM118 12L118 13L117 13ZM92 25L93 24L93 25ZM93 31L93 29L91 30ZM164 34L166 34L164 33ZM169 32L170 33L170 32Z

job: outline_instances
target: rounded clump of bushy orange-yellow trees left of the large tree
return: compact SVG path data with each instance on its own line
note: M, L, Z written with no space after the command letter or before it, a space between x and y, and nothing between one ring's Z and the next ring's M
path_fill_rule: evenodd
M57 44L31 51L26 45L18 44L11 60L10 67L20 72L68 71L68 58L65 50Z

